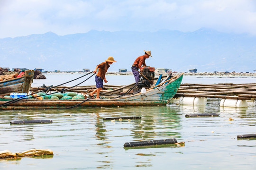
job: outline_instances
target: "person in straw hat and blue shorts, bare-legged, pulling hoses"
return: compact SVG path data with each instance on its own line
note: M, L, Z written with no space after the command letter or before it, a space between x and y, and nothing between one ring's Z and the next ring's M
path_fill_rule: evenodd
M102 62L101 64L97 65L95 70L93 71L93 73L96 73L97 69L99 68L98 73L95 76L96 89L93 90L91 93L89 93L89 95L92 98L94 98L93 94L97 92L96 99L100 99L99 95L100 95L100 91L103 88L103 80L105 83L108 82L105 77L105 74L108 68L110 67L110 64L112 64L113 62L117 62L117 61L115 61L114 58L110 56L108 59L105 60L105 62Z

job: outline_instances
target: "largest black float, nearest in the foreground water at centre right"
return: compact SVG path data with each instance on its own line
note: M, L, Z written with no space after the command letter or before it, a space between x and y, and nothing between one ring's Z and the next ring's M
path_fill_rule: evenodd
M124 147L134 147L134 146L149 146L156 144L175 144L177 140L173 139L160 139L160 140L148 140L148 141L139 141L139 142L127 142L124 144Z

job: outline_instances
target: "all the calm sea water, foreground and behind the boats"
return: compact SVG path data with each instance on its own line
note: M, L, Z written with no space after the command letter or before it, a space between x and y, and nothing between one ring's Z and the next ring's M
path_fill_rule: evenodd
M58 85L81 74L46 74L33 86ZM92 80L82 85L94 84ZM133 76L107 76L111 85L133 83ZM81 81L74 82L75 85ZM183 83L256 83L255 77L184 76ZM221 108L218 99L205 106L73 108L70 110L0 111L0 151L51 149L54 156L1 160L0 170L252 170L256 139L256 103L248 108ZM219 117L185 118L188 113L219 113ZM140 116L137 120L102 120L111 116ZM229 121L233 118L233 121ZM51 119L52 124L10 125L11 120ZM184 145L124 148L126 142L176 138Z

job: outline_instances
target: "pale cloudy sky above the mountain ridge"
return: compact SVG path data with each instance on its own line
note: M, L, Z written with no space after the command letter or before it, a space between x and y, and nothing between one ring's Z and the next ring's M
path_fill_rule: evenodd
M256 35L256 0L0 0L0 38L202 27Z

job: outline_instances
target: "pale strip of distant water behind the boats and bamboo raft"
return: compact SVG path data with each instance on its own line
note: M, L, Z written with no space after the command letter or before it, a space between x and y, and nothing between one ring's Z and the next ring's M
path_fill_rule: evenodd
M33 87L45 85L60 85L62 83L68 82L80 76L83 76L84 73L48 73L45 74L46 79L35 79L33 80ZM82 81L85 81L89 76L84 76L76 81L73 81L67 86L73 86L80 84ZM95 76L92 76L87 81L80 85L95 85ZM122 76L113 76L106 75L108 85L128 85L135 82L133 75L122 75ZM201 83L201 84L217 84L217 83L256 83L256 76L183 76L182 83Z

